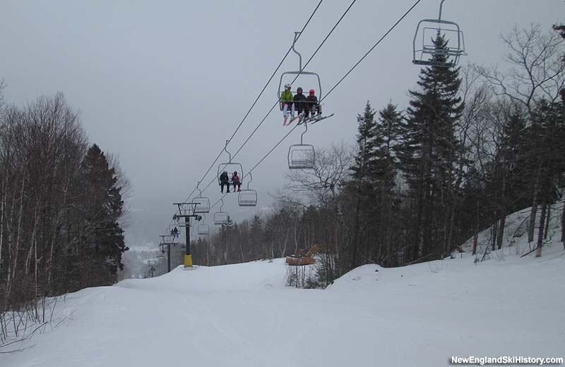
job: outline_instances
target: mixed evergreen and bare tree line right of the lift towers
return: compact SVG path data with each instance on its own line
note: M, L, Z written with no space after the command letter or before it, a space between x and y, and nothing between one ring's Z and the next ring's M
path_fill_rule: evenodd
M489 227L484 251L500 249L506 216L528 207L528 240L541 256L549 216L564 214L549 213L565 178L564 36L563 26L516 28L502 37L504 71L429 66L405 109L367 101L355 147L317 149L314 170L291 170L271 213L194 241L194 261L273 259L323 244L323 286L364 263L441 259L472 237L475 254ZM447 46L441 35L434 42Z

